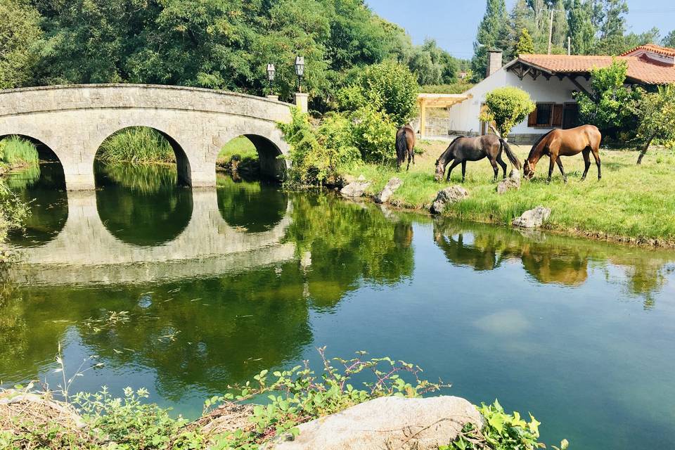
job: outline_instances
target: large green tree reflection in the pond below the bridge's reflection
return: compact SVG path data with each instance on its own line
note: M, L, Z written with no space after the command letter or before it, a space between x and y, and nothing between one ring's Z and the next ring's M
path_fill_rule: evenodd
M285 239L298 250L289 262L162 285L21 289L0 307L13 316L0 322L0 340L15 349L0 357L0 375L34 377L74 327L111 369L152 368L164 397L195 386L219 392L300 359L312 342L312 308L335 307L361 281L411 276L409 221L321 196L294 195L292 211ZM129 311L129 321L91 326L106 311Z

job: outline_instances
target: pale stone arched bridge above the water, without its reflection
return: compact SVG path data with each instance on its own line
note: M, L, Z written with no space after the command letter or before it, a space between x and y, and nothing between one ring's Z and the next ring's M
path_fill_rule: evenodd
M188 186L215 186L216 158L244 135L258 150L261 171L277 176L288 144L276 127L290 120L290 104L268 98L184 86L79 84L0 91L0 138L39 141L63 165L69 191L93 189L94 157L110 135L127 127L162 133Z

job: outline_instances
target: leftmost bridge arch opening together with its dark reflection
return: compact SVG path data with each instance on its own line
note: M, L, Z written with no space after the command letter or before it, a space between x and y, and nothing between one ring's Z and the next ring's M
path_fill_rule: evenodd
M39 139L8 134L0 136L0 160L16 167L6 175L6 183L30 209L23 229L10 233L11 242L22 248L49 243L68 221L68 193L58 156Z

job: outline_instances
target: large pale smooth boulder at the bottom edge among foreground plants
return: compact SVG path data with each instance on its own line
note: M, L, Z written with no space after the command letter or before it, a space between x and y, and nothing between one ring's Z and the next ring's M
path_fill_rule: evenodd
M466 423L482 428L483 418L465 399L382 397L366 401L297 428L300 435L282 437L274 450L437 449L456 439Z

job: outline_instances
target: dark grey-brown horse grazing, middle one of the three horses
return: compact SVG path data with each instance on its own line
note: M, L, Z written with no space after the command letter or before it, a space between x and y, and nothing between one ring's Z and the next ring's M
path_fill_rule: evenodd
M461 163L463 182L466 174L466 162L480 161L483 158L488 158L490 160L490 164L494 170L494 179L492 181L497 181L497 176L499 175L499 168L497 167L498 163L504 171L504 178L506 178L506 162L503 162L501 159L502 150L506 150L506 157L508 160L520 170L520 161L515 156L515 153L513 153L513 150L508 146L508 143L501 137L495 136L494 134L486 134L474 138L458 136L436 160L435 179L436 181L441 181L443 179L443 174L445 173L446 165L448 165L451 160L454 160L448 170L446 181L450 181L452 169Z

